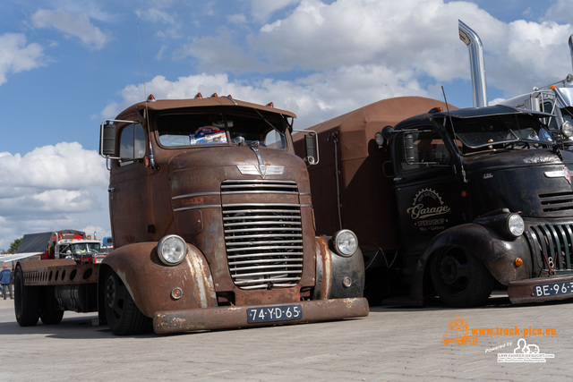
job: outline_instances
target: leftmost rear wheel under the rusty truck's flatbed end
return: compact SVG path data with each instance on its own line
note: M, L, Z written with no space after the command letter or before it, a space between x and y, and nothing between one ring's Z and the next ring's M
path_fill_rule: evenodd
M24 274L20 266L14 272L14 312L21 327L32 327L38 323L38 287L24 285Z

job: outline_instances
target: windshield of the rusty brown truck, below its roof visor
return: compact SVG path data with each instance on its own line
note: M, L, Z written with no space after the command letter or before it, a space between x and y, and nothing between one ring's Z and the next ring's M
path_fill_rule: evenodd
M279 115L177 113L158 115L156 130L162 146L246 146L286 149L286 122Z

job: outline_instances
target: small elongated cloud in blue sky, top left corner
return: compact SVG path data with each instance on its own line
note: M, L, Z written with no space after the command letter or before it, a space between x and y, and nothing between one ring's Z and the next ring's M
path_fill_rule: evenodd
M85 13L67 13L63 10L40 9L31 16L36 28L55 29L64 34L80 38L88 47L101 49L110 39L109 34L93 25Z

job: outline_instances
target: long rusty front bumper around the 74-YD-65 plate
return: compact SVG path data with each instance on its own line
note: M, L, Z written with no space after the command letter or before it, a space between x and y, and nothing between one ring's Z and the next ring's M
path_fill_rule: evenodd
M284 303L269 304L257 308L272 309L273 307L285 305ZM368 301L364 298L299 301L292 305L301 305L303 311L302 318L257 323L248 322L247 310L253 308L252 306L159 311L153 318L153 329L157 334L167 334L236 327L301 324L368 316Z

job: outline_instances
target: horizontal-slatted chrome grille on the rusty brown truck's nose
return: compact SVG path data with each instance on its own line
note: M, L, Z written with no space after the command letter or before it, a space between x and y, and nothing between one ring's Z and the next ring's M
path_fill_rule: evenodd
M221 195L298 194L295 182L225 181ZM289 287L303 272L300 204L224 204L223 226L231 277L242 289Z

